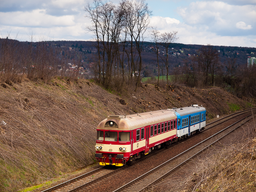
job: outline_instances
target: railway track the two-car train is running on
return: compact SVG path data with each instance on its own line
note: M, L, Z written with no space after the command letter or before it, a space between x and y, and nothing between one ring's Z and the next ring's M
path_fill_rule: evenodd
M232 118L236 117L237 115L247 113L250 110L244 110L244 111L241 111L241 112L237 112L235 114L231 114L231 115L226 116L224 118L221 118L217 121L214 121L210 124L207 124L206 125L207 129L205 129L204 131L216 126L216 124L218 124L220 122L227 121L229 119L232 119ZM182 141L182 142L176 143L175 146L176 145L182 145L183 142L185 142L185 140ZM140 162L140 161L143 161L143 159L145 159L145 158L154 158L156 153L160 153L160 155L161 155L161 153L164 154L164 150L165 149L161 149L161 150L153 152L152 154L149 154L149 155L147 155L143 158L140 158L139 160L136 161L136 163ZM85 174L83 174L79 177L76 177L74 179L65 181L65 182L63 182L59 185L56 185L56 186L54 186L52 188L49 188L49 189L46 189L42 192L50 192L50 191L52 191L52 192L73 192L73 191L78 191L79 189L82 189L86 186L89 186L89 188L90 188L90 186L96 185L96 184L93 184L93 183L95 183L97 181L100 182L101 180L104 180L104 178L107 178L111 175L114 175L116 172L119 172L119 171L121 171L125 168L126 168L126 166L123 166L121 168L113 168L113 169L110 169L109 166L108 166L108 168L106 166L100 167L96 170L93 170L92 172L85 173Z

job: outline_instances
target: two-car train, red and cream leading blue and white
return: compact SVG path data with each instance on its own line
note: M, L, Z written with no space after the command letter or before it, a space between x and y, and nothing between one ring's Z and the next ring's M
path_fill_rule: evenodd
M100 165L123 166L154 149L200 132L206 109L193 105L133 115L109 115L97 127L95 157Z

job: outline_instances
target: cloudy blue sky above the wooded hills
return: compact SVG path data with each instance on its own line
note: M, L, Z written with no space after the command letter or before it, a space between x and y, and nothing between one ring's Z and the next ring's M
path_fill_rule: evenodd
M84 6L92 0L0 0L0 37L90 40ZM112 2L118 3L118 0ZM256 0L146 0L150 25L178 31L178 43L256 47ZM31 35L33 34L33 35ZM150 38L147 39L150 41Z

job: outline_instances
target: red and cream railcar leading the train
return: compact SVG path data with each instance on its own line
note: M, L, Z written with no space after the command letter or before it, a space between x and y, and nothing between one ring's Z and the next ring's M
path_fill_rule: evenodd
M123 166L177 138L172 109L127 116L110 115L97 127L95 157L100 165Z

